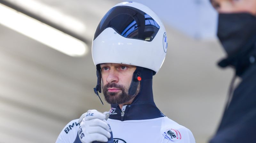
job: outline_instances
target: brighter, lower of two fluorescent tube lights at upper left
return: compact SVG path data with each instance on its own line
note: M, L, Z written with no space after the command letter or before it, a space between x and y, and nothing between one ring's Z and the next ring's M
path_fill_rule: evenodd
M69 56L83 56L87 45L68 34L0 4L0 24Z

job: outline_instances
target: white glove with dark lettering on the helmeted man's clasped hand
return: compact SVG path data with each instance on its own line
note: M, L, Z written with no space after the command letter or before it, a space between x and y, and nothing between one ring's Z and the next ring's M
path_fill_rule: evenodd
M88 110L84 113L78 120L78 135L81 142L108 142L108 138L111 137L111 129L106 121L108 117L108 112L101 113L97 110Z

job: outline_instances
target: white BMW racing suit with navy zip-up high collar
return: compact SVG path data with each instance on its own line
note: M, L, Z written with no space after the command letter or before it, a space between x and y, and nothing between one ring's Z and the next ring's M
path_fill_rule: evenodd
M145 74L145 73L144 73ZM122 109L111 104L107 120L113 133L114 143L195 143L192 132L172 121L156 107L153 100L152 76L143 76L140 93L132 104ZM78 119L69 122L56 143L73 143L79 124Z

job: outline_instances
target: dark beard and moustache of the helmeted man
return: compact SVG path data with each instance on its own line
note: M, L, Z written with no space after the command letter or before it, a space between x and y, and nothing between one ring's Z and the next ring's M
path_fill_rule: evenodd
M108 92L108 88L117 88L121 91ZM102 86L102 89L106 102L108 102L109 104L122 104L131 101L139 93L140 85L138 86L137 91L134 95L129 95L128 89L125 89L123 85L118 85L116 83L109 83L105 86Z

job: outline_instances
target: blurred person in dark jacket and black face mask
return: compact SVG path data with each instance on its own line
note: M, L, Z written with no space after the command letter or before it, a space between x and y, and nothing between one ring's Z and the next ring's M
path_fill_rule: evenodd
M220 126L210 143L256 142L256 0L210 0L219 13L218 37L227 53L220 67L235 76ZM241 79L236 86L235 79Z

